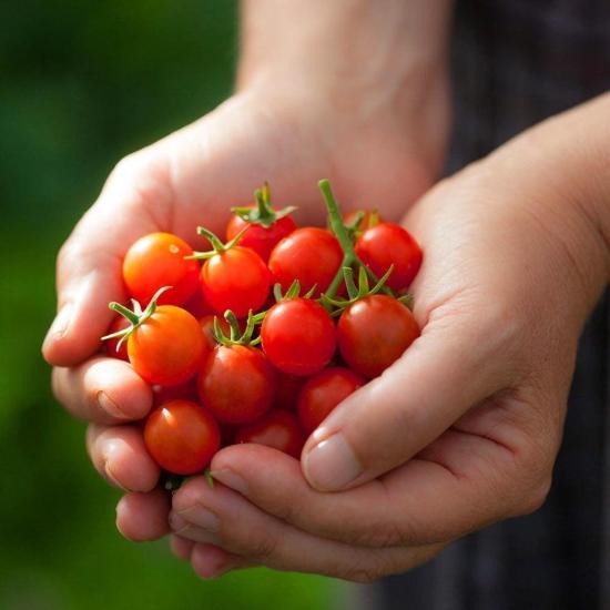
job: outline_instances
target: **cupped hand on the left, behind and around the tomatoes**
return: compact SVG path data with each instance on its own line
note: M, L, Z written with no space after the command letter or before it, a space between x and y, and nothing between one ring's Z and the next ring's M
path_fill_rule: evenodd
M128 296L121 277L126 250L154 231L201 245L195 226L222 233L228 209L252 201L264 180L278 205L299 206L302 223L324 223L321 177L332 180L346 206L377 207L396 218L434 180L437 167L420 146L425 134L415 138L428 123L418 116L411 129L344 110L319 94L295 100L268 88L238 93L121 161L61 248L58 315L42 352L54 367L58 400L91 423L87 441L95 468L128 492L118 507L125 537L163 536L169 512L166 495L156 489L159 468L140 428L130 425L150 411L151 389L129 364L100 355L100 337L114 316L108 303Z

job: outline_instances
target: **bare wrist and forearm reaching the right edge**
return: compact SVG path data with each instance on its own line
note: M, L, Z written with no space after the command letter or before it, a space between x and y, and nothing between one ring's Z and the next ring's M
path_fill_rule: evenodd
M523 132L484 161L490 180L504 176L496 189L504 185L511 203L559 246L558 261L578 277L566 288L579 291L583 316L610 278L609 113L610 95L600 96Z

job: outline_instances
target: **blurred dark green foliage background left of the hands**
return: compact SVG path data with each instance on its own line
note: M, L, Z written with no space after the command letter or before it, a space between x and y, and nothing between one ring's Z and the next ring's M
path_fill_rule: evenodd
M256 569L199 580L165 541L114 528L84 426L54 403L40 344L54 257L126 153L231 91L233 1L21 0L0 19L0 608L336 608L332 580Z

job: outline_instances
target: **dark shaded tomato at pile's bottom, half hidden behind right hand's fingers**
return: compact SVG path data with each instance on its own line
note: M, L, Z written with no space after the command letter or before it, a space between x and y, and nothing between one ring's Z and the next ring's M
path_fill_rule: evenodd
M242 426L235 435L235 444L237 443L265 445L298 459L305 444L305 435L292 413L273 409L255 421Z

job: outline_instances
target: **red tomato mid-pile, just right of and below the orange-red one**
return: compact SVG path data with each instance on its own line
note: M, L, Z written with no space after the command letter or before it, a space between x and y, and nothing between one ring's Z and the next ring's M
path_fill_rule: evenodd
M246 345L218 345L197 378L201 401L226 424L247 424L272 405L275 370L265 355Z

